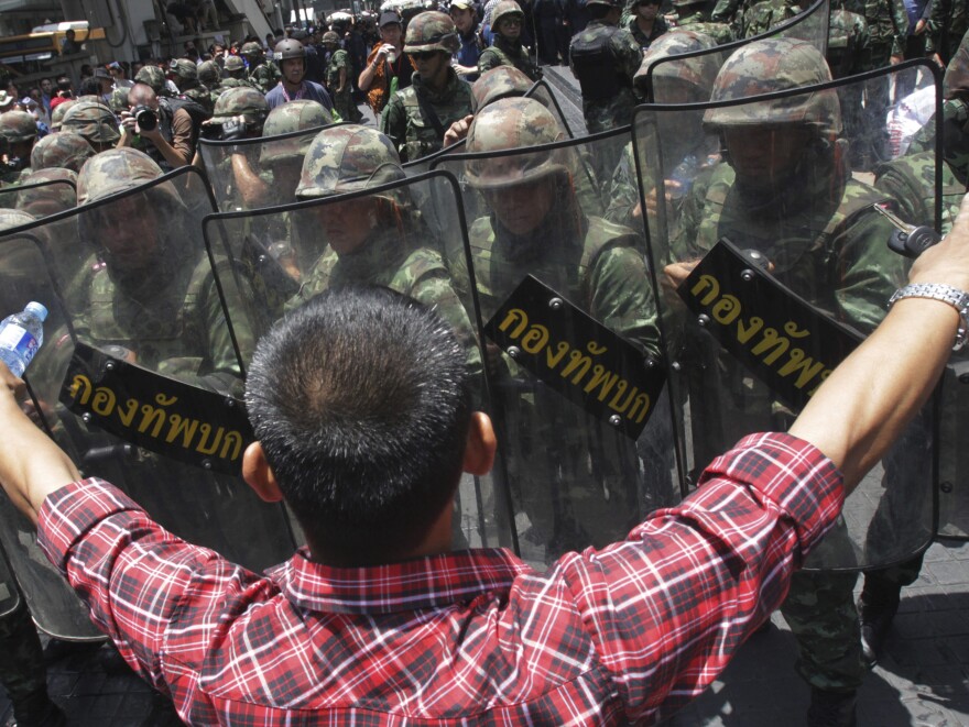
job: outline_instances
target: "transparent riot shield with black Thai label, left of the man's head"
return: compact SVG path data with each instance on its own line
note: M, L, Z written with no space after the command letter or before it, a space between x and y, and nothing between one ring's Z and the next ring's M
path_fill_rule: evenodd
M249 348L251 333L222 312L213 268L226 263L206 253L202 207L211 210L205 181L185 167L8 231L0 251L12 279L0 296L8 310L31 299L50 310L26 375L31 410L83 474L113 483L175 535L262 570L290 557L294 539L285 511L238 477L251 439L236 398L238 340ZM35 620L77 638L32 540L4 546Z

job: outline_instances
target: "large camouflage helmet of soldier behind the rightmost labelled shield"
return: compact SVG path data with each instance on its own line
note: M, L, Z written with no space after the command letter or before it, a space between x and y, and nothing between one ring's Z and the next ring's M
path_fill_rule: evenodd
M771 37L741 46L717 74L711 101L733 101L775 91L824 84L831 71L820 52L809 43ZM841 107L834 89L787 96L767 101L707 109L704 125L725 126L807 125L825 136L841 132Z

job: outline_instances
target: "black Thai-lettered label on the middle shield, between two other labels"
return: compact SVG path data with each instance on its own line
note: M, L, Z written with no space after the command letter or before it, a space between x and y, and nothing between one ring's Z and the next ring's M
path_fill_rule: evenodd
M631 439L649 421L666 370L529 275L484 326L549 388Z

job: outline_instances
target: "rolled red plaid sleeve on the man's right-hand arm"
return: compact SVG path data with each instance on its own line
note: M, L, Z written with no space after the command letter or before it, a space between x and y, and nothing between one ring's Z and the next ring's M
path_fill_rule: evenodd
M840 473L817 449L753 434L625 542L565 557L566 586L628 718L665 718L723 670L843 499Z

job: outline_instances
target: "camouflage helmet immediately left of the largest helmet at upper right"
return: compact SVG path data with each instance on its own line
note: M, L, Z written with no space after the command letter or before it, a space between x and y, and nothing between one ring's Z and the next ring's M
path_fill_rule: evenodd
M673 84L683 84L689 89L693 97L690 101L709 101L710 89L720 69L720 59L717 54L706 53L703 55L682 58L674 63L660 63L665 58L709 51L717 46L717 42L709 35L696 31L672 30L664 33L650 45L643 54L640 69L633 77L635 87L645 95L649 84L653 82L661 87ZM652 74L650 70L652 69ZM658 101L660 99L655 99ZM664 102L668 102L663 99Z

